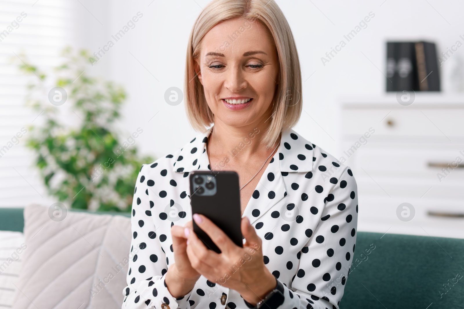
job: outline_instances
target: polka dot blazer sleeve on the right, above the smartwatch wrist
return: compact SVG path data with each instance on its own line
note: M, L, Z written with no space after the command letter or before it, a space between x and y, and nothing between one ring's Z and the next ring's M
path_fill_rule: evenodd
M279 309L339 309L356 243L357 195L353 173L344 166L324 199L319 224L314 231L306 230L309 241L291 287L284 285L285 300Z

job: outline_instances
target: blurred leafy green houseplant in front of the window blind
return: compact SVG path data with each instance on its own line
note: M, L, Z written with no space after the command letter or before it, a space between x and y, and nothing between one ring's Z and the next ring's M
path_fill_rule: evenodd
M135 141L143 130L124 138L118 133L126 93L88 74L91 57L86 50L74 53L66 47L62 57L64 63L46 74L21 54L19 69L31 75L26 104L41 122L29 126L27 147L36 154L35 165L49 194L65 206L128 212L138 171L154 160L137 153ZM54 102L63 97L65 102ZM66 109L69 115L63 116Z

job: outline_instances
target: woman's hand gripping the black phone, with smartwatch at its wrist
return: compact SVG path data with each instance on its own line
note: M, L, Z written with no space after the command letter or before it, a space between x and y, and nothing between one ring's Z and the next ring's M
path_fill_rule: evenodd
M252 305L276 287L276 278L264 265L262 240L248 218L241 221L246 240L243 248L235 245L206 216L193 214L193 220L221 250L218 254L207 249L193 230L186 227L187 256L193 269L213 283L238 291Z

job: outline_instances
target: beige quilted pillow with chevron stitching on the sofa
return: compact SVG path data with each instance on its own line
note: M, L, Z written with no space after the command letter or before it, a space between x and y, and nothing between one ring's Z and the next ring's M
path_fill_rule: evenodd
M121 308L129 217L68 211L54 221L49 207L31 204L24 220L27 249L13 309Z

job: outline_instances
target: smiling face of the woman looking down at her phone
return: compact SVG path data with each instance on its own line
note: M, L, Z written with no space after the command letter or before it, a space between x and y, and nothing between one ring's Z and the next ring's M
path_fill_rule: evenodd
M203 38L196 70L215 123L255 126L269 118L279 62L259 22L231 19L215 25Z

